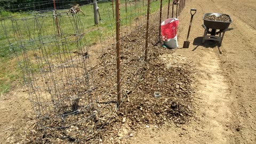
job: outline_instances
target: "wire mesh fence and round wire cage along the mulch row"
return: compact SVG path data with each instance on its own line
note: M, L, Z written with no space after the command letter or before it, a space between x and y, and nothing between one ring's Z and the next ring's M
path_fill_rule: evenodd
M158 21L169 17L161 11L162 6L166 9L167 0L151 1L147 20L147 4L121 1L119 57L115 6L111 1L98 3L99 25L94 25L93 3L79 6L80 12L64 9L67 4L52 11L1 11L0 33L5 39L0 50L12 52L17 58L38 118L38 132L30 133L37 137L31 142L50 142L51 137L56 142L97 143L102 139L105 127L117 121L117 94L121 94L119 104L125 105L143 79L145 57L152 54L145 55L146 41L159 41L158 33L146 40L146 32L158 31ZM147 21L156 28L146 29ZM121 61L120 69L117 59Z

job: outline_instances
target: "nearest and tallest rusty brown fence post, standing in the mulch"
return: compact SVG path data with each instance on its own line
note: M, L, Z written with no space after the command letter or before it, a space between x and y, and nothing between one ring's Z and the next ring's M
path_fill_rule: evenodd
M116 0L116 69L117 69L117 108L120 106L121 97L121 69L120 69L120 14L119 0Z

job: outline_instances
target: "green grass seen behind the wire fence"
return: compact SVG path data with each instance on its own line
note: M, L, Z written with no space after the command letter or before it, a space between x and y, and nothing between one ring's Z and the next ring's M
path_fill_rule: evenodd
M146 0L137 2L137 9L135 9L135 2L127 1L127 13L125 12L125 1L121 1L120 5L120 17L121 27L129 26L135 18L145 15L147 12ZM163 5L168 3L167 0L163 1ZM93 5L81 6L81 10L85 13L78 13L78 19L81 20L83 32L85 33L87 45L93 45L100 41L99 33L101 35L101 41L115 36L115 18L112 13L112 3L98 3L100 7L101 21L98 26L94 25L93 17ZM114 5L115 9L115 5ZM159 9L159 1L151 2L151 11L154 13ZM58 13L65 13L66 10L59 10ZM18 67L17 57L21 58L19 51L21 51L21 43L26 46L26 51L33 51L38 45L40 37L43 37L43 42L50 42L55 39L54 19L52 18L52 12L45 13L11 13L1 11L0 13L0 92L6 93L12 89L12 87L21 83L22 70ZM35 19L35 15L39 18ZM44 17L42 17L42 15ZM12 19L12 20L11 20ZM17 20L15 20L17 19ZM60 31L70 42L72 39L70 35L74 34L74 31L81 33L82 29L74 28L74 21L76 17L68 17L66 14L58 17L60 23ZM99 31L98 31L99 28ZM39 36L39 34L41 34ZM33 39L33 41L31 40ZM17 43L18 42L18 43ZM9 44L12 44L9 46ZM47 45L49 49L45 53L50 54L58 52L57 46L49 43ZM76 44L69 43L67 45L69 50L75 50ZM14 53L15 52L15 53ZM31 55L29 55L31 56ZM31 67L38 68L38 66L31 65Z

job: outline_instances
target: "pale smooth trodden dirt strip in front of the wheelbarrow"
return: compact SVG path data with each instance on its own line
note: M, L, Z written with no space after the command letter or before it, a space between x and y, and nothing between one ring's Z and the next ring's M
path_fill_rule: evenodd
M228 85L221 75L219 58L213 51L203 52L201 66L197 67L202 77L198 79L198 94L201 95L202 108L205 109L205 131L210 131L211 143L227 143L226 123L230 122L230 103L227 97ZM210 59L209 59L210 58Z

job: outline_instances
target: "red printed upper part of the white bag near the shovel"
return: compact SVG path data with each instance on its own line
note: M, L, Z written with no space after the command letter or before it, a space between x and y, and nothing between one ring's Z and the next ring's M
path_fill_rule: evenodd
M177 35L178 24L179 20L177 18L170 18L161 23L163 41L167 41Z

